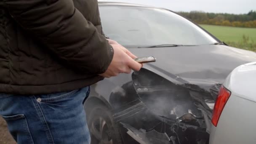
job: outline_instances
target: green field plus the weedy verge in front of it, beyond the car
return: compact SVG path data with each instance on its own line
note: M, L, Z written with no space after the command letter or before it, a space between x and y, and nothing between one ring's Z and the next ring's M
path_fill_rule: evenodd
M201 27L230 46L256 51L256 28L225 27L201 24Z

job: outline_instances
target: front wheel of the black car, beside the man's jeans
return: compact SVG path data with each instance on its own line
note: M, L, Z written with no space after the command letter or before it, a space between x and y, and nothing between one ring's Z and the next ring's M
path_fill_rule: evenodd
M88 115L91 144L123 144L118 125L107 107L93 107Z

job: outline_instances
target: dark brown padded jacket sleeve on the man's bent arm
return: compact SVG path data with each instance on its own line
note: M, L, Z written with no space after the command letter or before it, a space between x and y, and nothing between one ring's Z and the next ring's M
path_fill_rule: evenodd
M73 0L4 0L4 7L21 27L78 70L101 74L112 61L111 45Z

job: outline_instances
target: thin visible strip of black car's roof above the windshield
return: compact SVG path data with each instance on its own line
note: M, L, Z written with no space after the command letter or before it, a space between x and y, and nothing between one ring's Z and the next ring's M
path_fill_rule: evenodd
M134 6L134 7L147 7L147 8L157 8L149 5L140 5L134 3L121 3L121 2L106 2L106 1L99 1L99 6Z

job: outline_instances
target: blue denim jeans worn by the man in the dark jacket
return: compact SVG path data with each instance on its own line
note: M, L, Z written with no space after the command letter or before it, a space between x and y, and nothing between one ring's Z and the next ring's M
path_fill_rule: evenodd
M90 144L83 102L90 88L45 94L0 93L0 115L18 144Z

